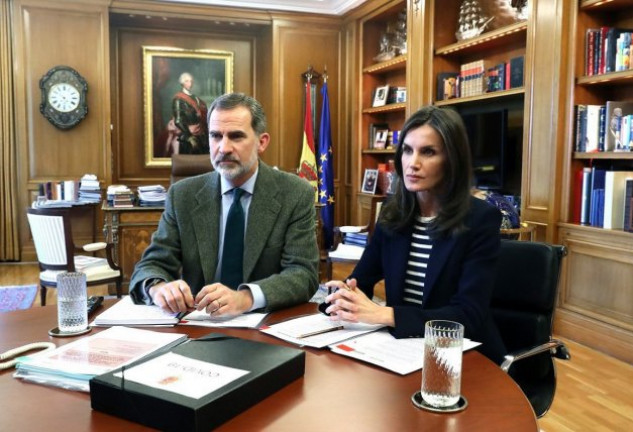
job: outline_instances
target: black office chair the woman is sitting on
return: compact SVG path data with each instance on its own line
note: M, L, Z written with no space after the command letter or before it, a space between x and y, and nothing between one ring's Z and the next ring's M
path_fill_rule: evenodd
M556 392L553 357L569 360L567 347L552 338L561 261L565 247L501 240L492 295L492 316L508 350L501 369L521 387L537 417Z

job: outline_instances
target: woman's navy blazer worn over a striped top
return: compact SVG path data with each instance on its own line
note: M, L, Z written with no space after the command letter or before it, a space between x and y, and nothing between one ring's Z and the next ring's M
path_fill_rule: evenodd
M350 277L369 298L374 285L384 279L387 306L394 310L395 327L390 332L395 337L423 337L429 320L457 321L464 325L465 337L482 342L480 351L501 363L506 350L490 313L501 213L471 197L465 225L457 236L433 240L421 307L403 302L413 227L391 232L378 223Z

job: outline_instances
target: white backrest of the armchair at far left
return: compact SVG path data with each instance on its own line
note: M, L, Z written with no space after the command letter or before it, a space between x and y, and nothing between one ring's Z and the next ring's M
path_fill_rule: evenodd
M74 271L74 243L66 209L27 209L27 218L40 267Z

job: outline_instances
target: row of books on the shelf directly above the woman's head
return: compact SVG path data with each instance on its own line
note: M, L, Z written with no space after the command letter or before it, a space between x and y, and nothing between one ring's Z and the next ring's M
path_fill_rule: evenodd
M460 72L440 72L437 75L437 100L477 96L523 86L524 57L486 66L476 60L460 66Z

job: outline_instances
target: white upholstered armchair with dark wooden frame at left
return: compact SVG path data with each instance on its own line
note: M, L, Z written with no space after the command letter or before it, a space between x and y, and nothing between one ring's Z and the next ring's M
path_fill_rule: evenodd
M90 243L82 248L73 242L68 209L29 208L27 218L33 235L35 252L40 266L40 299L46 305L46 288L57 288L57 274L82 272L86 274L88 286L116 284L117 297L121 297L121 269L112 259L112 243ZM89 259L75 255L84 251L93 253L105 249L106 258ZM85 261L93 261L82 265Z

